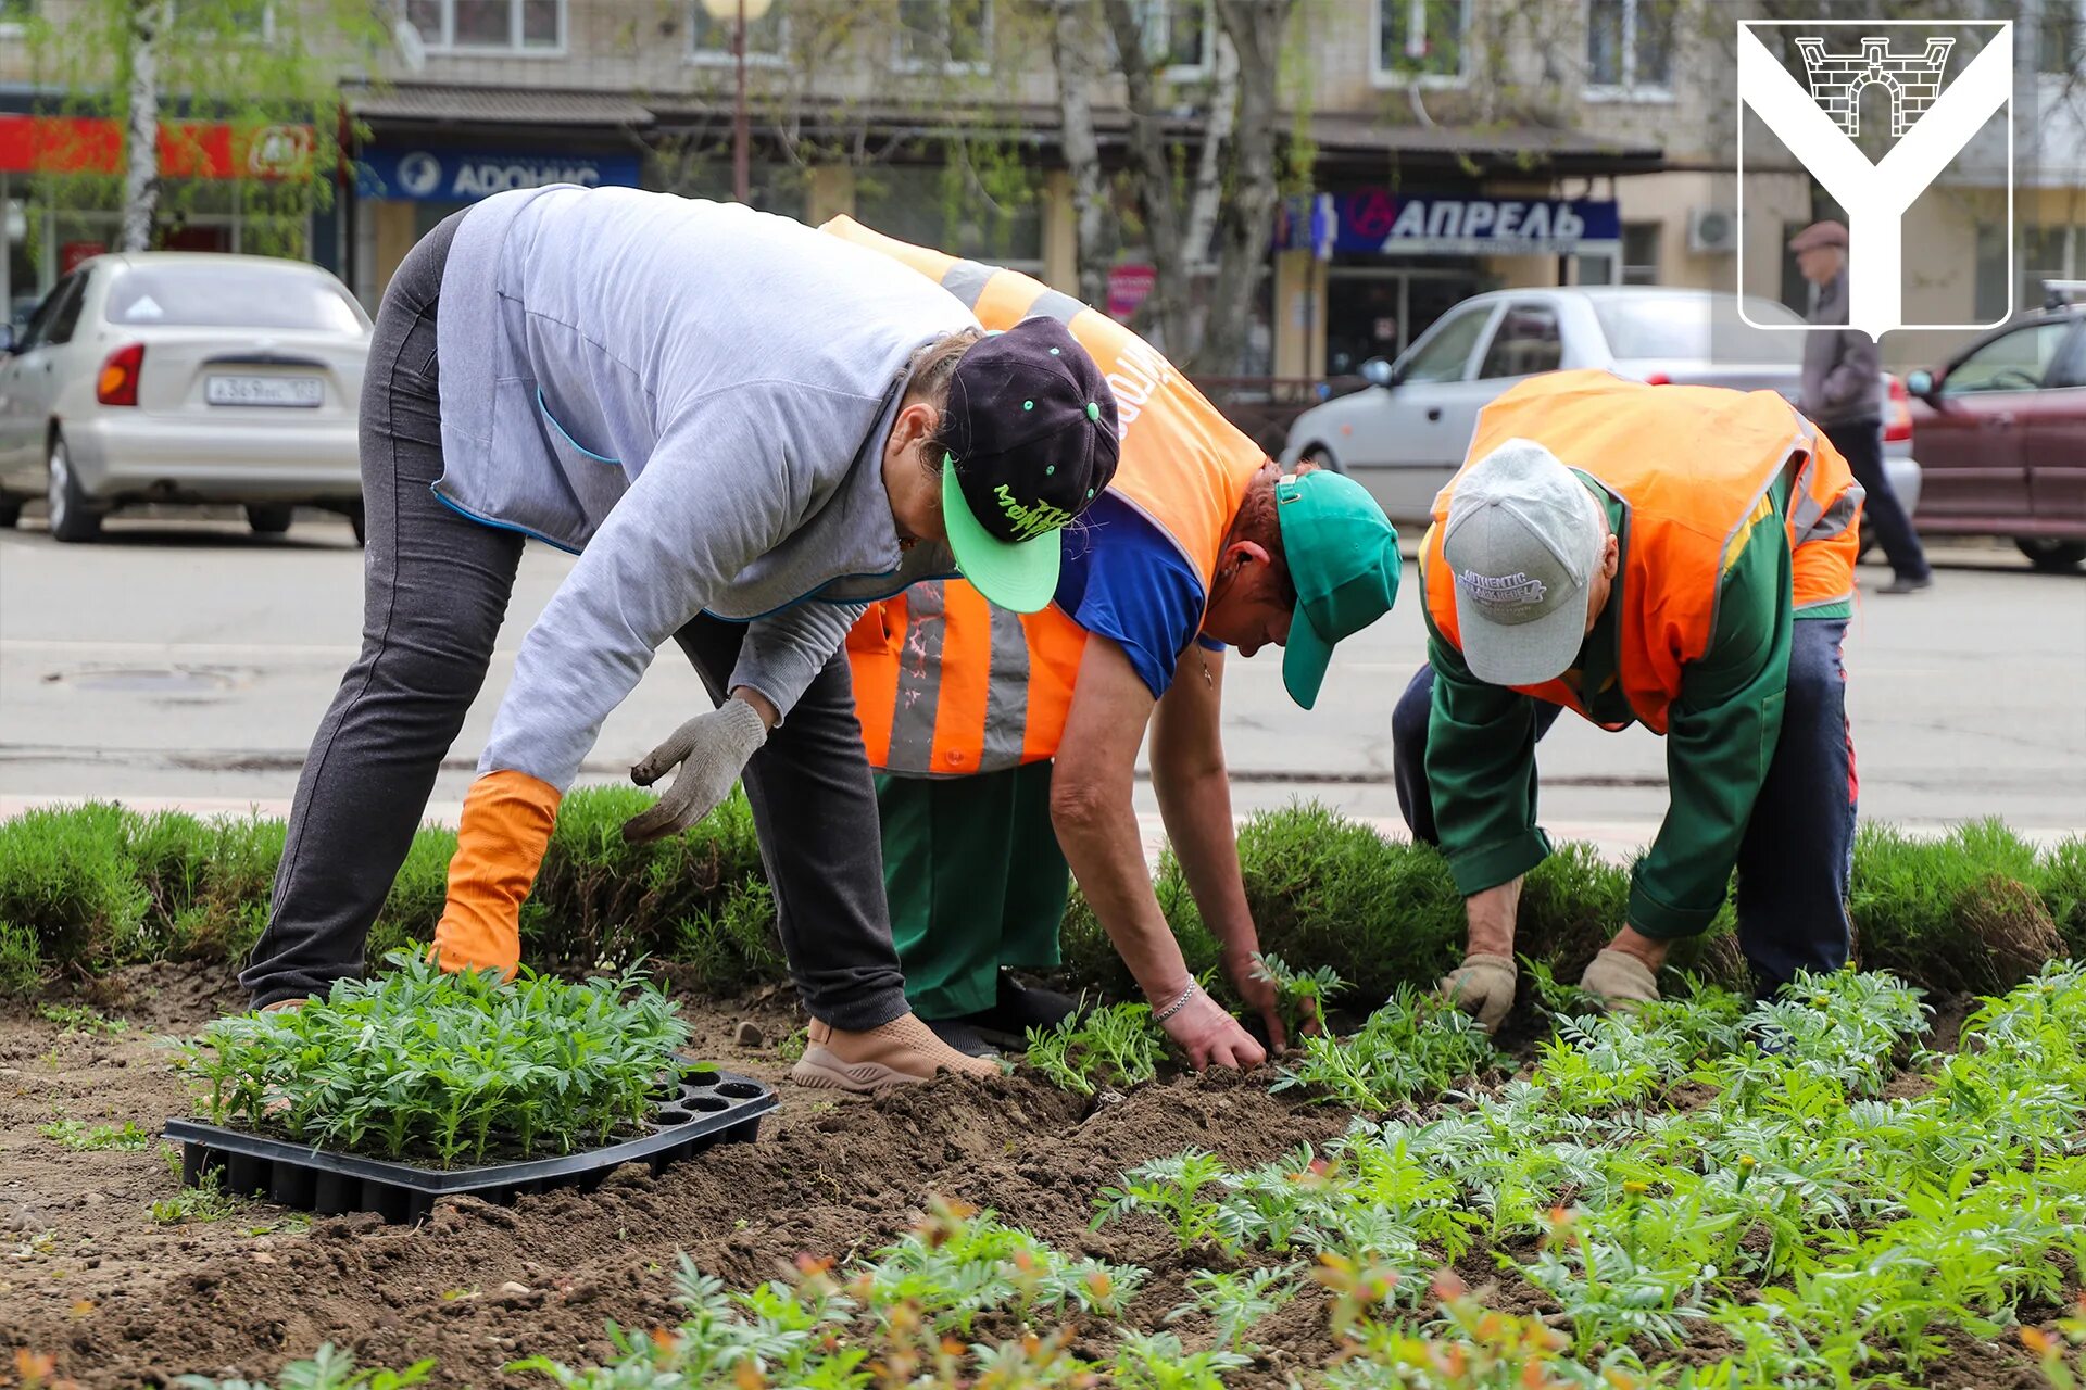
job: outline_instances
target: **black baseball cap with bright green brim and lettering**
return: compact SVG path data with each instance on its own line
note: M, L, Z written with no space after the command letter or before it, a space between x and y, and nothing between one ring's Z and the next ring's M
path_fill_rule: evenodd
M1058 529L1116 475L1116 394L1058 319L1022 319L955 363L941 513L980 594L1037 613L1058 592Z

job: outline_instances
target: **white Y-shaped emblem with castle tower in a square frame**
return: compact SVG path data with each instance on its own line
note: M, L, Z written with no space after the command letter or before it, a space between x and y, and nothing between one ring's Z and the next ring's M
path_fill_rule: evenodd
M1890 25L1915 27L1905 40L1877 38ZM1800 83L1763 38L1794 27L1790 48L1802 58ZM1852 42L1827 40L1825 31ZM1982 46L1965 58L1963 40L1934 38L1963 29ZM1959 71L1950 73L1950 58ZM1871 88L1890 96L1892 146L1879 158L1857 144L1861 102ZM1905 215L1948 163L1992 121L2005 125L2007 185L2013 185L2013 23L2011 21L1740 21L1738 25L1738 217L1746 225L1748 113L1781 142L1804 171L1846 208L1848 325L1871 338L1900 327L1992 327L1988 323L1905 321ZM1879 131L1869 131L1871 135ZM2013 242L2013 198L2007 198ZM1738 292L1748 294L1740 256ZM2009 267L2011 277L2011 267ZM1744 315L1744 298L1740 298ZM1758 325L1769 327L1769 325ZM1802 329L1792 329L1802 331ZM1819 327L1819 331L1832 331Z

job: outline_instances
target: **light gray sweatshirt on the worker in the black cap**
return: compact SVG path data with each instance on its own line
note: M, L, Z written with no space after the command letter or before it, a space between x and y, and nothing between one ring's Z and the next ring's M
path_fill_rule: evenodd
M918 271L786 217L624 188L476 204L442 273L434 490L580 552L480 773L563 792L699 613L751 623L732 684L786 713L864 600L953 573L901 554L882 442L912 354L964 327Z

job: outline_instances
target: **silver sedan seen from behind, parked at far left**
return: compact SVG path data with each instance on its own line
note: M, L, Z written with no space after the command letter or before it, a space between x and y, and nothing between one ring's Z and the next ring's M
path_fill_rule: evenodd
M369 315L315 265L267 256L94 256L17 342L0 327L0 525L27 498L56 540L125 502L346 513L361 540L355 417Z

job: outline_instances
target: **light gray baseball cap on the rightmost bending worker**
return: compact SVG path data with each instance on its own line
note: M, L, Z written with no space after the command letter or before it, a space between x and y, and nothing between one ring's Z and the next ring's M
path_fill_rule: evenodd
M1585 644L1606 540L1600 502L1535 440L1506 440L1473 463L1441 531L1471 675L1491 686L1562 675Z

